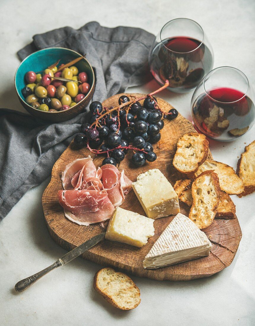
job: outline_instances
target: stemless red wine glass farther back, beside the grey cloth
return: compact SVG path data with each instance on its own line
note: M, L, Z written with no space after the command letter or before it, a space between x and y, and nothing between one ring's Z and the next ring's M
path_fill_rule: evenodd
M176 93L194 89L213 67L213 50L202 27L187 18L166 23L149 52L154 78Z

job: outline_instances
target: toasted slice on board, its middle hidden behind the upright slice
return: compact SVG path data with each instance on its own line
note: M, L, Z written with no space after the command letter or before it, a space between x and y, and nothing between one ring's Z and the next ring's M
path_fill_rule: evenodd
M192 180L178 180L174 185L179 200L183 201L189 207L192 205L193 198L191 195ZM219 193L219 204L216 209L215 218L233 219L235 218L235 204L228 194L224 191Z

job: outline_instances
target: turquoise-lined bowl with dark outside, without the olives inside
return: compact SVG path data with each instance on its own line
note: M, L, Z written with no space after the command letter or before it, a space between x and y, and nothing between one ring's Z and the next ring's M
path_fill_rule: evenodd
M76 64L74 64L74 66L78 68L79 72L84 71L87 73L88 83L90 84L90 90L88 94L73 107L58 112L41 111L27 104L21 92L22 88L27 84L27 82L25 81L25 74L27 71L42 71L47 67L53 65L53 63L57 62L59 59L60 62L58 66L62 63L66 64L80 56L82 55L78 52L65 48L47 48L30 54L22 61L15 73L14 83L21 104L30 114L41 120L46 120L50 122L61 122L69 120L70 118L74 117L75 115L81 113L84 110L84 108L90 102L95 90L94 71L88 60L85 58L78 61Z

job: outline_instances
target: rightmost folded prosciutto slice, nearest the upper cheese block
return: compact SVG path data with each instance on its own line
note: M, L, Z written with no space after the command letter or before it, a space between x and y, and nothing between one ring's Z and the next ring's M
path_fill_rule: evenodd
M120 206L125 199L124 194L131 189L132 182L129 180L124 171L120 171L112 164L105 164L101 167L102 183L108 193L108 197L114 207Z

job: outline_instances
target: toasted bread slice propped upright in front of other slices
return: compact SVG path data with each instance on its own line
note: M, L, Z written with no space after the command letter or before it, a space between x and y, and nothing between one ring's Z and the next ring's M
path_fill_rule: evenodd
M199 229L212 224L219 204L219 178L214 171L201 173L192 183L193 203L188 217Z

